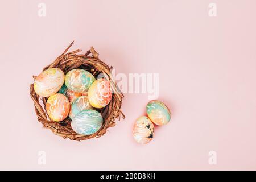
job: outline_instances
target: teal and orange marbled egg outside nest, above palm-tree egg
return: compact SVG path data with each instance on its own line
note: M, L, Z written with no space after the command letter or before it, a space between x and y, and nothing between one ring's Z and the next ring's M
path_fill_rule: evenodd
M161 101L152 100L146 106L147 115L156 125L166 125L171 119L170 109Z

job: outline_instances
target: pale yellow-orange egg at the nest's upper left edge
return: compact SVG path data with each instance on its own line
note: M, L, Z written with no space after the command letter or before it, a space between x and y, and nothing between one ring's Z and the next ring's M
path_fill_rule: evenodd
M35 92L42 97L49 97L57 93L65 80L64 72L59 68L50 68L36 77Z

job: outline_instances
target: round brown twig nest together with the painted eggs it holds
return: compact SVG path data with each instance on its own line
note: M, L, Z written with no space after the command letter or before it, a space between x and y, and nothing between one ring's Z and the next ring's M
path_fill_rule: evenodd
M121 111L123 94L93 47L78 54L80 50L68 52L72 44L38 77L33 76L30 95L44 128L71 140L98 138L115 126L115 119L125 118ZM98 75L104 78L98 81ZM89 92L94 82L98 90Z

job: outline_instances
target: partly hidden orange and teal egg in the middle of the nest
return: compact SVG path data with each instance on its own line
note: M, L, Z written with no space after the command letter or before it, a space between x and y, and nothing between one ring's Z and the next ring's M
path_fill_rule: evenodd
M73 119L76 114L82 110L93 109L88 101L87 96L77 97L71 104L71 109L69 111L69 118Z

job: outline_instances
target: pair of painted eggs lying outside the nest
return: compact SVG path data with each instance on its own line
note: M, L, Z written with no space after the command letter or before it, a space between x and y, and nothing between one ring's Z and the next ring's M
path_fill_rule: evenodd
M155 125L166 125L171 119L170 109L161 101L152 100L146 106L147 115L139 117L133 126L133 137L136 142L146 144L154 136Z

